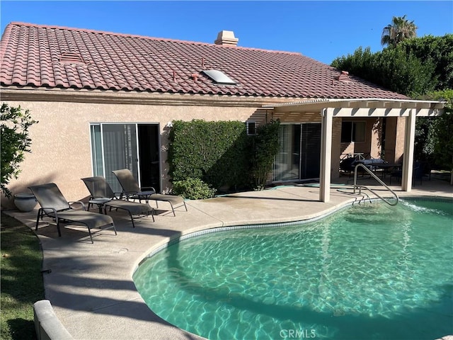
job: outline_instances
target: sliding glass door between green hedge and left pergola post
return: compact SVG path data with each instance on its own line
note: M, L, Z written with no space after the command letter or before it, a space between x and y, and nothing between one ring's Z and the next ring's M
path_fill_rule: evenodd
M273 181L319 178L321 124L280 125L280 151L275 157Z

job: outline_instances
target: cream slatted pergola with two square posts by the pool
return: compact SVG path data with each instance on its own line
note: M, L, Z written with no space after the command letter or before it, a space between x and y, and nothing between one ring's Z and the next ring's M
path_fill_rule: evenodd
M312 99L266 105L273 113L314 113L321 114L321 164L319 174L319 200L330 200L332 123L333 118L385 118L406 117L404 133L403 191L412 189L413 149L415 142L415 118L437 116L443 113L442 101L412 101L401 99Z

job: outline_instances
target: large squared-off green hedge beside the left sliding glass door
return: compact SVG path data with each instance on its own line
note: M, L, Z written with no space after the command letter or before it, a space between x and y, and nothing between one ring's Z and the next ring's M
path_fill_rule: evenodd
M247 186L250 182L250 139L238 121L173 122L168 163L175 181L202 179L214 188Z

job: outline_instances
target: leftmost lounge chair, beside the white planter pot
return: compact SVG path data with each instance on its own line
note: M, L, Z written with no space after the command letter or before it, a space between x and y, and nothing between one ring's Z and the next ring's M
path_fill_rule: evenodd
M40 218L42 220L44 216L47 216L55 219L59 237L62 236L59 228L59 223L62 221L77 222L86 225L90 234L91 243L94 243L91 228L101 228L104 225L110 225L110 227L103 229L113 228L115 235L117 234L112 217L86 211L84 203L80 201L68 202L62 192L59 191L57 184L47 183L40 186L30 186L29 188L41 206L38 210L38 217L36 217L35 230L38 230ZM78 203L82 209L73 209L70 203Z

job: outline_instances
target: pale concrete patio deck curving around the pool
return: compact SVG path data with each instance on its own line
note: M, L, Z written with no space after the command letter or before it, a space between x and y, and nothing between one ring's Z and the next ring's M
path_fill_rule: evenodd
M423 181L422 186L415 186L409 193L392 188L401 197L453 197L453 187L435 179ZM331 201L321 203L319 188L280 186L210 200L189 200L188 212L179 208L173 217L171 210L158 210L156 222L144 217L136 220L134 229L127 214L113 212L117 236L112 229L97 232L94 244L83 227L64 228L62 237L57 236L55 225L40 227L37 233L44 254L42 267L50 270L43 273L45 297L74 339L202 339L159 318L137 293L132 274L147 254L169 239L190 232L306 220L361 197L332 188ZM159 203L159 208L167 207ZM37 209L28 213L6 212L34 229Z

